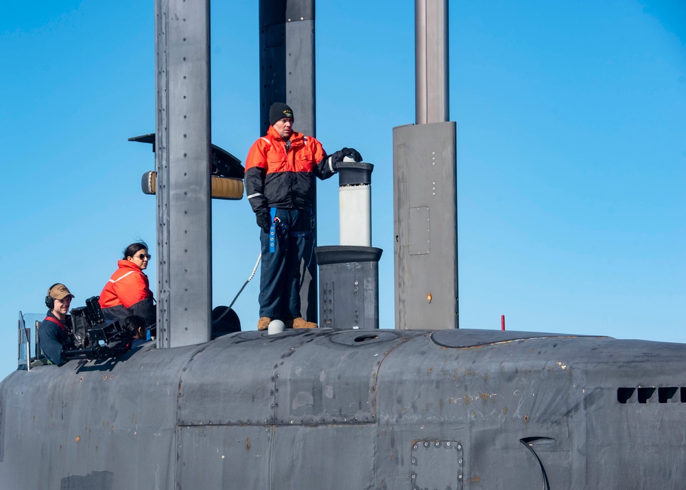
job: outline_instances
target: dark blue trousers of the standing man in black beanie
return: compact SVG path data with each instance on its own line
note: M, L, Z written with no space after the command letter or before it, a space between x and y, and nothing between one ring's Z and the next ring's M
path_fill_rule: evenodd
M314 215L309 209L271 209L269 233L260 231L259 316L299 318L301 263L309 264L314 250Z

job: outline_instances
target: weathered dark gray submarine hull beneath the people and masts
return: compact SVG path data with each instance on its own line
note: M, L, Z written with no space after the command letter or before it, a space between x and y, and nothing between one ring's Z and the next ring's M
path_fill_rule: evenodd
M1 489L680 488L686 345L249 331L16 371Z

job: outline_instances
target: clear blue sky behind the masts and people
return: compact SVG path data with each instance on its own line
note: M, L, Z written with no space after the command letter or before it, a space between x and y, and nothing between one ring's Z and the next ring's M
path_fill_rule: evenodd
M257 2L212 5L213 142L259 131ZM414 2L317 5L317 137L375 165L380 323L394 327L392 128L414 122ZM0 378L19 310L99 294L155 203L154 1L10 2L0 18ZM686 2L451 1L460 325L686 342ZM296 115L297 129L297 115ZM319 244L338 244L320 183ZM247 200L213 202L213 304L259 255ZM154 264L149 269L156 284ZM235 305L255 329L259 281Z

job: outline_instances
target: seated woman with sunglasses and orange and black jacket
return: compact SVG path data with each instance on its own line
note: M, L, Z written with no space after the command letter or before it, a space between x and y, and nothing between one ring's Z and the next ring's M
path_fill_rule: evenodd
M150 283L143 273L150 261L147 244L143 240L132 243L126 247L123 255L123 259L117 262L119 268L100 293L102 314L106 320L119 320L120 325L123 325L127 316L139 315L153 329L157 312Z

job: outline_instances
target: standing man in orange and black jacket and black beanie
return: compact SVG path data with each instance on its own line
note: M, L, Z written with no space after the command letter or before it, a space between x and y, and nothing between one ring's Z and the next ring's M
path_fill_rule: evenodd
M327 155L314 137L294 131L293 121L289 106L272 104L267 135L246 159L246 194L261 228L259 330L277 318L287 327L317 327L300 314L300 263L309 264L314 250L314 179L333 176L345 156L362 161L353 148Z

